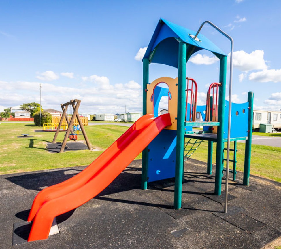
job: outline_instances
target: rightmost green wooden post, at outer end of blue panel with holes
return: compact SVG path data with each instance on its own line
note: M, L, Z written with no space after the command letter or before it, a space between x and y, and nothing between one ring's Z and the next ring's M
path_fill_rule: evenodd
M245 145L245 161L244 161L244 177L243 185L249 185L250 164L251 164L251 147L252 147L252 127L253 127L253 108L254 108L254 93L248 92L249 115L248 115L248 139Z

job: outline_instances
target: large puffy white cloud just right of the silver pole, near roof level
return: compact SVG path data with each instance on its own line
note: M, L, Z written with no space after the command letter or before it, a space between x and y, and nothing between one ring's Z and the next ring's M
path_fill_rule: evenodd
M267 69L263 55L263 50L255 50L250 54L244 50L235 51L233 52L233 67L243 72Z

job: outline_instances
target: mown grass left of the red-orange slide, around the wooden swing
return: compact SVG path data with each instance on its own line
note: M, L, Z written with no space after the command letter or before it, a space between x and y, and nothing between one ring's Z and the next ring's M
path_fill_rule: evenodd
M46 143L52 142L54 132L34 132L40 129L33 124L1 123L0 174L88 165L108 148L128 127L86 126L85 130L93 148L101 151L68 151L49 153ZM17 138L27 133L33 138ZM60 132L57 142L62 142L65 132ZM83 140L83 136L78 136ZM138 156L140 158L140 156Z

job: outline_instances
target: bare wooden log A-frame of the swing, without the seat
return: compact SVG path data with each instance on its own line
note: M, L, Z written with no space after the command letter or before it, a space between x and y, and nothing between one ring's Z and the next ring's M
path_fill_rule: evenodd
M85 138L85 141L86 141L86 144L88 146L88 149L91 150L90 142L88 140L88 137L87 137L86 131L84 129L83 123L82 123L82 121L81 121L81 119L79 117L79 114L78 114L78 109L79 109L80 103L81 103L81 100L75 99L75 100L70 100L69 102L67 102L65 104L61 104L61 109L63 110L63 114L61 115L61 120L59 122L58 127L56 128L56 133L55 133L55 136L54 136L54 139L53 139L52 143L54 144L56 142L56 138L57 138L57 136L59 134L59 130L60 130L61 125L63 123L63 118L64 117L65 117L65 120L66 120L66 122L68 124L68 128L67 128L67 131L65 133L65 137L63 139L63 143L61 144L61 149L60 149L59 153L64 151L65 146L66 146L66 142L67 142L67 138L68 138L69 134L73 132L72 131L72 126L74 124L75 117L78 120L79 126L80 126L82 134L83 134L83 136ZM73 114L71 116L70 121L68 120L68 116L67 116L67 109L68 109L69 105L71 105L72 108L73 108Z

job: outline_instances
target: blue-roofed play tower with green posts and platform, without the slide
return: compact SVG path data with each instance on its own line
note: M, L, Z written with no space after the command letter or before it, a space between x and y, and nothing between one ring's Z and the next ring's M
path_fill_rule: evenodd
M168 96L168 111L171 115L172 126L163 130L143 151L142 189L147 189L148 182L175 177L175 209L181 208L186 138L208 141L208 174L212 174L213 142L217 143L215 195L221 194L223 162L226 160L224 158L225 142L229 145L230 141L234 141L234 149L230 149L229 146L226 149L228 152L227 160L233 161L234 164L232 171L233 179L235 179L236 158L230 160L229 151L233 151L234 157L236 157L237 140L246 140L243 184L249 184L253 93L248 93L248 102L244 104L232 103L229 108L229 102L225 100L227 54L206 37L198 34L201 27L195 33L160 19L143 58L143 113L154 112L154 116L157 117L160 99L163 96ZM192 54L202 49L212 52L220 59L220 75L219 82L212 83L208 89L206 106L197 107L197 83L194 79L186 77L186 62ZM178 78L163 77L149 84L150 63L165 64L178 68ZM163 84L166 86L163 87ZM150 99L151 92L154 95L153 99ZM230 120L227 110L231 110L231 106L233 111L231 111ZM201 113L203 122L196 122L196 110ZM227 118L229 122L225 121ZM235 126L228 135L230 121ZM203 126L203 132L193 132L193 126ZM187 157L190 156L188 152L190 151L187 151ZM227 166L227 180L228 173Z

